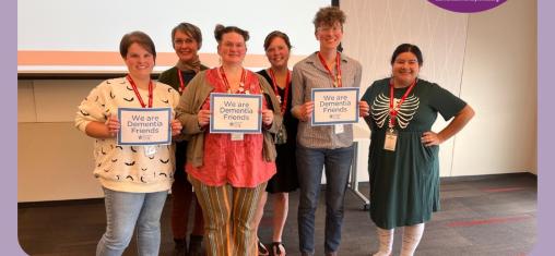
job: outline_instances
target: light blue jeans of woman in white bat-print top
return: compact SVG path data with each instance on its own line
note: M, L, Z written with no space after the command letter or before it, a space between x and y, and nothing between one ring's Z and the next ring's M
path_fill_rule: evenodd
M141 256L158 255L160 216L167 191L129 193L103 187L106 205L106 233L96 246L96 256L121 255L137 227L137 247Z

